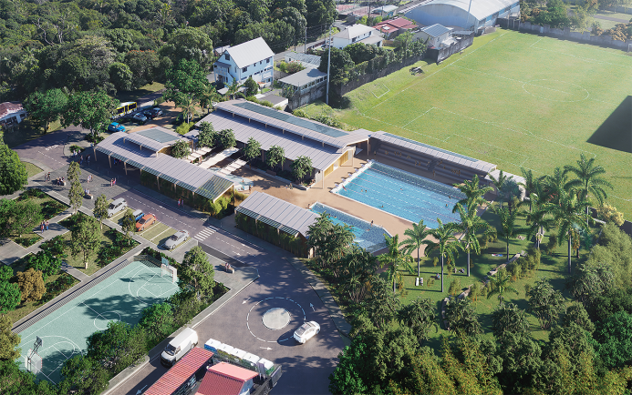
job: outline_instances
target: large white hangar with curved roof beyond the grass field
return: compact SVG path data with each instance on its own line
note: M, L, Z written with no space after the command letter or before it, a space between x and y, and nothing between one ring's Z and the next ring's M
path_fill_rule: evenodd
M432 0L409 9L406 17L420 25L440 24L476 30L496 25L496 19L520 13L516 0Z

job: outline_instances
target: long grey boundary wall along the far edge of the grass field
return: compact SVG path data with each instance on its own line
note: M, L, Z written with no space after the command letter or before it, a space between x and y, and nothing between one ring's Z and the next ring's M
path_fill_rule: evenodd
M498 18L498 23L501 27L520 30L521 32L529 32L535 35L547 35L554 38L593 44L596 46L609 46L627 52L632 48L632 41L630 40L624 42L613 40L610 35L591 35L590 32L571 32L568 27L565 29L555 29L550 25L532 25L530 22L519 23L513 19L507 20L505 18Z

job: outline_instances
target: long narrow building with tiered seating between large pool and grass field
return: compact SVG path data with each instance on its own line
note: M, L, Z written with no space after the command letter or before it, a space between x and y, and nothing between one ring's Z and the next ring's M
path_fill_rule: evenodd
M483 178L496 169L491 163L382 131L371 135L368 150L373 157L388 157L455 182L471 179L474 175Z

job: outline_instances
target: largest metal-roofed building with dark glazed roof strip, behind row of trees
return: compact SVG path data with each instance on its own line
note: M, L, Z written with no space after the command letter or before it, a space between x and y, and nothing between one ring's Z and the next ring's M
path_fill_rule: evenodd
M243 147L253 137L261 144L262 160L265 151L273 146L285 151L284 169L288 169L297 157L309 157L317 181L323 181L340 166L353 166L353 154L357 145L368 142L370 132L358 129L347 132L328 127L319 122L293 116L274 108L261 106L243 99L218 103L213 111L197 124L209 122L215 130L233 129L237 147ZM185 137L197 138L193 130Z

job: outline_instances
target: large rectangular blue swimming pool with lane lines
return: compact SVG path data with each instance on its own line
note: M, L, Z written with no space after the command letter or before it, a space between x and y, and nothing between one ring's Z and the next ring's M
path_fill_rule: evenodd
M465 197L455 187L376 161L369 161L332 192L415 223L423 219L429 228L437 228L437 218L458 222L459 214L452 208Z

